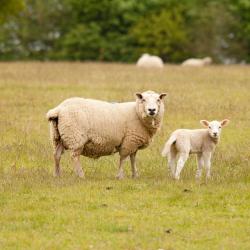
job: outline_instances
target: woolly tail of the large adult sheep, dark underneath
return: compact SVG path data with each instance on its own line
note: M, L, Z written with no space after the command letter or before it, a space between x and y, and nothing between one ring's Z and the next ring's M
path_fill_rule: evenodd
M54 146L57 146L61 141L61 136L58 130L58 115L58 108L50 109L46 114L46 118L50 122L50 137Z

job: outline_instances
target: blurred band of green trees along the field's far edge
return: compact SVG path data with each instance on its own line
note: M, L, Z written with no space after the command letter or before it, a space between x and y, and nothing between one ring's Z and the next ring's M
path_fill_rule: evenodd
M0 0L0 60L250 62L250 0Z

